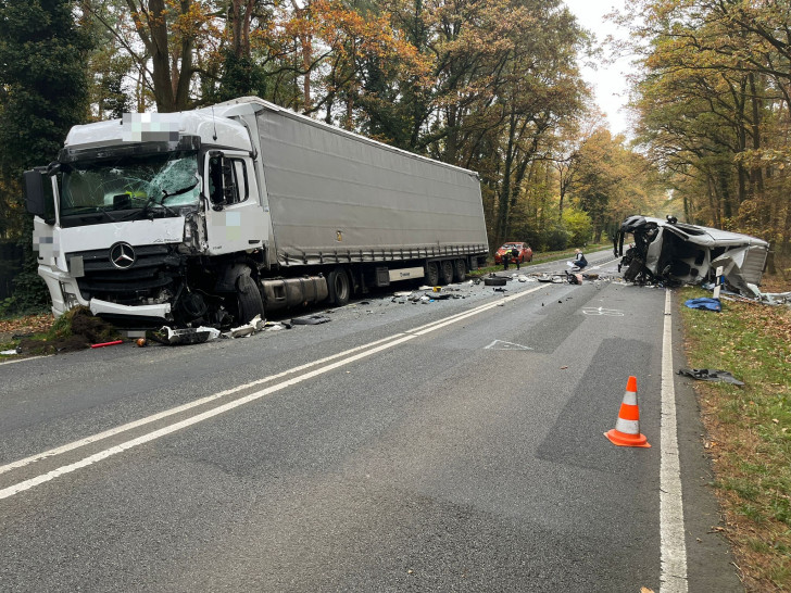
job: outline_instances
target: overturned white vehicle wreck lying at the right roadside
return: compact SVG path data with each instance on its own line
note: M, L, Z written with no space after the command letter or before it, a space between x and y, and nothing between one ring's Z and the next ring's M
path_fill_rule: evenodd
M633 243L624 253L625 237ZM679 223L676 217L629 216L614 238L618 272L636 283L696 285L715 280L745 295L758 293L769 243L749 235Z

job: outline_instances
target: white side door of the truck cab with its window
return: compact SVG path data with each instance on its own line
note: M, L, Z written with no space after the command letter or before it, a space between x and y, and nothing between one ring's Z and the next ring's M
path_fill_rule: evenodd
M203 179L209 254L263 248L265 217L250 154L210 151L204 160Z

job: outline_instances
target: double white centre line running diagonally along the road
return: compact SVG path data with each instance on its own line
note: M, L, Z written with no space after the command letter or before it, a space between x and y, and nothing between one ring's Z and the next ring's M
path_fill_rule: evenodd
M543 287L537 287L537 288L533 288L533 289L530 289L530 290L525 290L525 291L518 292L516 294L512 294L511 296L507 296L505 299L498 300L498 301L495 301L493 303L487 303L485 305L480 305L478 307L475 307L475 308L473 308L470 311L467 311L467 312L464 312L464 313L460 313L460 314L456 314L456 315L452 315L452 316L450 316L448 318L439 319L437 321L432 321L432 323L426 324L424 326L419 326L419 327L417 327L417 328L415 328L413 330L410 330L410 331L406 331L406 332L401 332L401 333L395 333L393 336L389 336L387 338L382 338L381 340L377 340L377 341L374 341L374 342L369 342L367 344L360 345L360 346L356 346L356 348L347 350L344 352L339 352L338 354L334 354L331 356L327 356L326 358L322 358L321 361L314 361L312 363L306 363L304 365L293 367L291 369L285 370L282 373L277 374L277 375L272 375L269 377L265 377L263 379L259 379L256 381L252 381L252 382L246 383L243 386L239 386L239 387L235 387L233 389L228 389L228 390L225 390L225 391L221 391L218 393L215 393L213 395L209 395L209 396L203 398L201 400L196 400L194 402L190 402L189 404L185 404L185 405L181 405L181 406L178 406L178 407L174 407L174 408L171 408L171 409L161 412L159 414L153 414L153 415L148 416L146 418L142 418L140 420L136 420L134 422L128 422L128 424L123 425L123 426L120 426L117 428L114 428L114 429L111 429L111 430L106 430L104 432L100 432L98 434L93 434L91 437L87 437L85 439L80 439L78 441L74 441L72 443L62 445L62 446L56 447L56 449L52 449L52 450L46 451L43 453L39 453L38 455L33 455L30 457L26 457L24 459L20 459L17 462L13 462L11 464L4 465L4 466L0 466L0 474L3 474L5 471L10 471L12 469L16 469L16 468L20 468L20 467L29 465L32 463L38 462L40 459L43 459L43 458L47 458L47 457L53 457L55 455L60 455L60 454L66 453L68 451L73 451L73 450L78 449L80 446L85 446L87 444L95 443L95 442L100 441L100 440L103 440L103 439L108 439L108 438L113 437L115 434L120 434L122 432L131 430L134 428L138 428L140 426L145 426L147 424L153 422L155 420L160 420L162 418L166 418L166 417L172 416L174 414L179 414L181 412L186 412L186 411L188 411L190 408L193 408L193 407L197 407L197 406L200 406L200 405L210 403L210 402L212 402L214 400L217 400L219 398L223 398L223 396L226 396L226 395L229 395L229 394L233 394L233 393L237 393L237 392L242 391L244 389L249 389L251 387L254 387L254 386L258 386L258 384L261 384L261 383L265 383L265 382L268 382L268 381L273 381L275 379L279 379L279 378L286 377L288 375L292 375L294 373L299 373L301 370L306 370L306 369L309 369L311 367L314 367L314 366L317 366L317 365L327 363L327 362L332 361L335 358L340 358L340 357L343 357L343 356L348 356L347 358L342 358L342 359L337 361L335 363L328 364L327 366L317 368L315 370L305 373L303 375L299 375L297 377L293 377L293 378L288 379L286 381L282 381L280 383L277 383L277 384L274 384L274 386L268 387L266 389L263 389L261 391L256 391L256 392L251 393L249 395L244 395L243 398L240 398L238 400L234 400L233 402L228 402L227 404L223 404L221 406L214 407L214 408L209 409L206 412L197 414L194 416L191 416L190 418L186 418L186 419L180 420L178 422L175 422L173 425L163 427L163 428L161 428L159 430L154 430L154 431L149 432L147 434L142 434L142 436L136 438L136 439L131 439L131 440L126 441L124 443L121 443L118 445L112 446L110 449L106 449L104 451L101 451L99 453L96 453L93 455L90 455L88 457L85 457L84 459L80 459L79 462L76 462L76 463L73 463L73 464L70 464L70 465L65 465L65 466L59 467L56 469L53 469L52 471L48 471L48 472L42 474L40 476L37 476L35 478L30 478L30 479L25 480L25 481L22 481L22 482L20 482L17 484L11 485L11 487L5 488L5 489L2 489L2 490L0 490L0 500L8 499L9 496L13 496L15 494L18 494L20 492L24 492L26 490L29 490L29 489L32 489L32 488L34 488L36 485L39 485L41 483L48 482L50 480L53 480L54 478L58 478L58 477L63 476L65 474L71 474L73 471L76 471L77 469L81 469L84 467L88 467L90 465L93 465L93 464L102 460L102 459L106 459L108 457L111 457L111 456L116 455L118 453L123 453L124 451L127 451L127 450L133 449L135 446L138 446L140 444L151 442L151 441L153 441L155 439L159 439L161 437L164 437L166 434L171 434L172 432L176 432L177 430L181 430L183 428L187 428L189 426L192 426L194 424L201 422L203 420L206 420L206 419L212 418L214 416L217 416L219 414L224 414L225 412L228 412L228 411L234 409L236 407L239 407L241 405L244 405L244 404L248 404L248 403L253 402L255 400L259 400L259 399L261 399L261 398L263 398L265 395L269 395L272 393L275 393L277 391L280 391L281 389L285 389L287 387L291 387L291 386L294 386L294 384L300 383L302 381L305 381L307 379L312 379L313 377L317 377L319 375L323 375L325 373L328 373L328 371L334 370L336 368L339 368L341 366L344 366L344 365L348 365L348 364L353 363L355 361L365 358L365 357L371 356L372 354L375 354L377 352L387 350L389 348L393 348L393 346L395 346L398 344L401 344L403 342L406 342L406 341L412 340L414 338L417 338L419 336L424 336L424 335L429 333L431 331L435 331L437 329L441 329L441 328L443 328L443 327L445 327L448 325L451 325L451 324L457 323L460 320L466 319L467 317L472 317L474 315L478 315L480 313L484 313L485 311L489 311L490 308L495 307L498 305L498 303L500 303L500 302L503 302L503 301L510 302L510 301L514 301L516 299L520 299L522 296L526 296L527 294L530 294L532 292L536 292L537 290L540 290L541 288L543 288ZM360 352L360 351L363 351L363 352ZM357 354L354 354L354 355L349 356L350 354L353 354L355 352L357 352Z

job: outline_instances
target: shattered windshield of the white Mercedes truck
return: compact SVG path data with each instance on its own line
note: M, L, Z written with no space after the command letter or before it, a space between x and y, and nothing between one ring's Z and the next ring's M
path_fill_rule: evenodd
M199 181L196 152L74 163L63 174L61 215L193 205Z

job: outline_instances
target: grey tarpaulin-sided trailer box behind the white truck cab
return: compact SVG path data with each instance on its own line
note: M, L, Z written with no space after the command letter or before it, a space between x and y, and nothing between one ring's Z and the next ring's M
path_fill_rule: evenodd
M258 98L215 109L241 104L255 110L273 263L486 256L476 173Z

